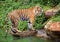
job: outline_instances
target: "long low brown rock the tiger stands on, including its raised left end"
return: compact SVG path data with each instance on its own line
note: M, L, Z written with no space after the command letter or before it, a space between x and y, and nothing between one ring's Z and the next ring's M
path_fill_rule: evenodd
M26 31L21 31L21 32L16 32L13 33L11 30L8 30L9 34L13 35L13 36L19 36L19 37L27 37L27 36L34 36L37 31L36 30L26 30Z

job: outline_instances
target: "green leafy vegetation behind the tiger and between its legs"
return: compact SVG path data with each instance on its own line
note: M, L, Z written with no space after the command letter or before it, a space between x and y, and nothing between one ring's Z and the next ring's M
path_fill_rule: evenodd
M43 10L47 10L50 8L53 8L54 6L58 5L60 3L60 0L0 0L0 42L12 42L12 37L9 37L6 39L4 38L7 28L11 28L11 21L7 20L7 14L14 9L23 9L23 8L29 8L35 5L39 5L43 8ZM60 13L58 13L60 14ZM56 20L58 19L60 21L60 16L57 15L57 18L55 16L52 17L52 19ZM43 26L43 21L45 20L44 14L41 16L38 16L36 18L34 28L40 29ZM7 22L8 21L8 22ZM8 24L8 25L7 25ZM20 21L19 22L19 29L20 30L26 30L27 22L26 21Z

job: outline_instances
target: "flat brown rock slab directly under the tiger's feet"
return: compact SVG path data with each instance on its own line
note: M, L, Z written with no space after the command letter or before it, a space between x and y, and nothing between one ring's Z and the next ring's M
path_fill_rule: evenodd
M32 31L27 30L27 31L13 33L12 35L26 37L26 36L34 36L36 33L37 33L37 31L35 31L35 30L32 30Z

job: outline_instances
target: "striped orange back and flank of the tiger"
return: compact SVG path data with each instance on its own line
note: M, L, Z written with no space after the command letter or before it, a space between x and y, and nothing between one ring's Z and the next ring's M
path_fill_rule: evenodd
M14 10L8 14L10 18L20 18L20 20L28 20L30 17L35 16L32 9L20 9Z

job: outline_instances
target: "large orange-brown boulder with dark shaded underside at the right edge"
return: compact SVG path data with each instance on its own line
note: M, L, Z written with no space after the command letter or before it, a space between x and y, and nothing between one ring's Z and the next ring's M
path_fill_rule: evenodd
M52 38L60 38L60 22L50 20L44 27L48 36Z

